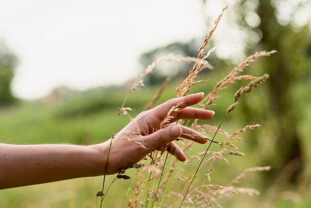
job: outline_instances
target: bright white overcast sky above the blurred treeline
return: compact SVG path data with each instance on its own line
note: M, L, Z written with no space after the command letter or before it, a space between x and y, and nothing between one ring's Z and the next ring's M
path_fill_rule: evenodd
M0 0L0 39L19 58L13 93L125 82L141 70L140 54L203 38L202 15L200 0Z

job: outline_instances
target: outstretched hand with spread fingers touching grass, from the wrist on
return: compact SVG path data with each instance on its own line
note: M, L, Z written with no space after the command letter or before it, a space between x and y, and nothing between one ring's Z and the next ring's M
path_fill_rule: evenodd
M139 162L148 153L156 150L160 145L172 142L180 137L182 132L203 136L197 131L180 124L175 124L176 122L174 122L177 120L177 117L178 119L212 118L214 115L214 111L212 110L188 107L189 105L199 103L203 99L203 95L203 93L198 93L171 99L153 109L141 112L112 140L107 174L117 173L120 168L127 168L130 164ZM181 104L182 109L172 114L173 119L170 120L171 123L168 126L159 129L160 123L167 112L176 104ZM201 144L207 142L206 139L193 139L187 136L181 137L191 139ZM128 138L128 140L126 140L126 138ZM102 160L105 160L105 162L107 160L110 142L111 141L108 140L100 144L100 150L104 153ZM169 153L182 162L187 160L183 151L174 142L170 145Z

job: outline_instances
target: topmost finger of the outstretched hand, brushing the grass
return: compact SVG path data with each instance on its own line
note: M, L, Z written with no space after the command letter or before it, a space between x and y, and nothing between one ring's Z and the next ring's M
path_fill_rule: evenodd
M203 99L204 93L192 94L180 98L171 99L163 104L156 106L153 110L157 113L158 118L163 118L170 108L176 104L182 104L182 108L199 103Z

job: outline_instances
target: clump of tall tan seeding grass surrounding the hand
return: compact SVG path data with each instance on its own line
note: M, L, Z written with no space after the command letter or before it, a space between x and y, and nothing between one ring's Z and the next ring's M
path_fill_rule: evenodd
M216 30L220 20L224 14L224 11L227 9L227 6L223 8L221 14L216 19L214 26L205 37L203 44L199 48L198 57L182 57L180 55L169 54L165 57L160 57L154 63L149 65L146 70L144 70L138 78L135 80L134 84L128 91L128 94L121 105L118 114L115 126L118 122L118 118L121 113L126 114L131 119L129 112L131 108L125 107L126 100L131 91L136 90L138 87L144 86L143 77L146 74L152 72L155 66L161 62L166 61L193 61L194 66L190 69L187 78L181 83L180 86L176 88L176 98L186 96L189 91L198 83L203 83L204 81L199 80L198 74L205 68L212 68L212 66L206 61L209 55L214 51L214 48L211 48L208 52L205 52L205 47L209 42L210 37L213 35ZM239 151L236 147L236 142L242 142L242 138L237 135L243 133L247 130L252 130L259 127L259 124L247 125L241 129L233 131L233 133L228 133L221 128L222 124L226 122L226 117L237 107L237 101L241 96L251 92L255 87L258 87L266 79L268 75L265 74L261 77L254 77L252 75L242 74L244 69L251 63L254 62L256 58L261 56L270 56L276 51L259 51L255 54L246 58L238 66L233 68L233 70L211 90L203 101L197 105L197 107L208 109L211 105L214 104L214 101L218 99L218 93L221 90L226 89L228 86L236 83L236 81L249 81L249 84L245 87L241 87L233 95L233 104L228 107L224 112L222 121L218 126L212 126L209 124L199 124L199 121L196 119L194 121L185 121L177 120L183 125L191 126L191 128L199 131L203 135L206 135L209 132L213 133L212 139L208 137L202 137L194 134L183 133L184 136L192 138L204 138L207 139L208 145L206 149L202 152L191 153L192 156L189 161L181 164L173 157L170 157L168 152L170 148L170 143L165 144L152 153L148 154L145 160L141 164L133 164L129 168L136 168L136 177L133 179L133 185L131 190L129 190L126 195L126 198L129 199L127 206L130 208L136 207L222 207L219 203L219 199L228 197L230 194L249 194L257 195L258 191L251 188L240 188L235 187L235 185L243 178L247 173L256 172L256 171L267 171L270 167L254 167L248 168L243 171L240 175L233 178L232 181L223 185L216 185L212 183L213 174L217 173L218 170L213 168L214 164L218 161L224 161L230 164L229 160L226 158L227 155L233 156L243 156L244 154ZM158 94L152 100L146 109L150 109L155 103L156 100L160 97L160 94L164 91L166 83L163 84ZM164 128L168 123L171 122L172 113L179 112L180 106L177 104L173 106L163 119L160 124L160 128ZM221 113L221 112L217 112ZM191 124L191 125L190 125ZM138 126L139 128L139 126ZM113 129L112 139L110 143L110 149L113 148L113 138L115 135L116 128ZM138 129L139 130L139 129ZM224 139L221 139L225 137ZM129 138L130 140L130 138ZM185 153L191 152L191 147L193 145L192 141L184 141L182 139L177 139L180 146ZM212 150L213 149L213 150ZM109 159L109 152L107 156L107 161ZM196 162L197 161L197 162ZM108 162L106 163L106 169L109 166ZM187 171L185 171L187 169ZM120 170L119 174L112 181L114 183L117 179L129 179L125 175L126 170ZM220 170L219 170L220 171ZM191 175L187 173L192 172ZM199 173L204 173L203 177L198 177ZM104 197L107 194L108 189L111 187L111 184L105 188L105 177L103 178L102 190L97 193L97 196L101 197L99 207L102 207ZM178 183L176 183L178 181ZM105 194L104 194L105 193Z

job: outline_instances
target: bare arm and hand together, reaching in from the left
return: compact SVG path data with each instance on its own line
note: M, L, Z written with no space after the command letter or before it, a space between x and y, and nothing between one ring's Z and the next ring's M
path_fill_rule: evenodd
M136 116L112 140L107 174L115 174L120 168L127 168L130 164L139 162L160 145L180 137L182 132L203 136L197 131L174 122L178 114L179 119L212 118L214 111L188 107L199 103L202 99L203 93L172 99ZM155 130L159 128L169 109L180 103L182 109L173 114L172 123L165 128ZM141 135L131 133L138 130ZM124 140L124 137L128 137L125 133L130 133L130 138L140 142L144 147ZM183 138L202 144L207 141ZM0 189L103 175L110 142L111 139L90 146L0 144ZM171 143L169 152L182 162L187 160L185 154L174 142Z

